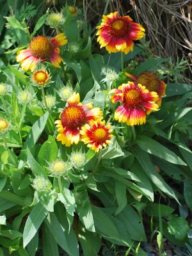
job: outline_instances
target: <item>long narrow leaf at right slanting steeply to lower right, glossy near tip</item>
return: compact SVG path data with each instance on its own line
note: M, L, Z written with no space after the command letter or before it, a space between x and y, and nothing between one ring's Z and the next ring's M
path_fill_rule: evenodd
M154 164L152 163L150 157L146 152L141 150L139 147L132 148L132 152L134 153L134 156L136 159L138 159L140 165L142 166L144 172L147 174L150 180L154 182L154 184L159 188L161 191L166 193L168 196L171 196L174 198L177 202L177 196L175 195L174 191L168 184L164 181L164 179L157 173L156 168L154 167Z

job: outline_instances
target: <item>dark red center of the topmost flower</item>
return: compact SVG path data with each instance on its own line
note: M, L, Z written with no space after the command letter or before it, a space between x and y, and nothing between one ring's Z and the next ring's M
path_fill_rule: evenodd
M122 17L116 19L111 24L111 34L115 36L127 36L129 31L129 23Z

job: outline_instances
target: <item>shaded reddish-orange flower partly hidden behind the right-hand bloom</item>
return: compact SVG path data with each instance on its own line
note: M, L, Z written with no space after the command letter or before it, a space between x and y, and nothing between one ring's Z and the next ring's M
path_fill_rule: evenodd
M163 80L160 80L157 77L155 72L143 72L137 77L134 77L127 72L125 72L125 75L130 77L136 84L142 84L145 86L149 92L157 92L159 99L156 103L161 106L162 97L166 95L166 84L163 82Z

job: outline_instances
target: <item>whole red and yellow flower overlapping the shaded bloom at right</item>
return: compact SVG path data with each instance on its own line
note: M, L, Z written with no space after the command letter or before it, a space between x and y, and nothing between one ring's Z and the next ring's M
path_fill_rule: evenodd
M146 122L146 115L156 111L159 106L156 104L158 95L156 92L149 92L145 86L128 82L122 84L118 89L113 89L111 97L113 103L122 103L115 111L115 120L127 125L141 125Z

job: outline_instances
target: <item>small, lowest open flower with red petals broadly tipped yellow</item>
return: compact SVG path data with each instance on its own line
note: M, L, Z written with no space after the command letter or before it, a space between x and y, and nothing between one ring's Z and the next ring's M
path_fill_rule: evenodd
M102 120L91 120L90 124L85 124L81 129L81 140L87 144L87 147L92 148L95 152L99 152L102 147L106 148L112 143L111 125L106 125Z

